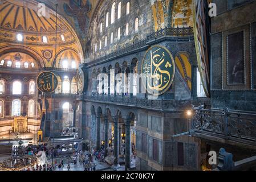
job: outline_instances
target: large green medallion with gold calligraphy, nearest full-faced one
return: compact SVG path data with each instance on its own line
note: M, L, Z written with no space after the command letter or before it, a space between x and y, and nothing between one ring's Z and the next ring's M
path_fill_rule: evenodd
M160 96L172 85L175 64L170 51L162 46L148 49L141 65L142 84L149 94Z

